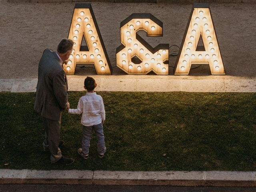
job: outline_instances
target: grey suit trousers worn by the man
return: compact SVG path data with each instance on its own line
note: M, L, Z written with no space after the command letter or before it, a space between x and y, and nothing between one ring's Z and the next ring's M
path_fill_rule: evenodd
M45 131L43 148L44 148L44 151L50 150L51 163L56 163L58 160L60 160L62 156L59 148L60 122L61 122L61 117L58 121L50 120L48 118L43 117L43 124L44 124L44 131Z

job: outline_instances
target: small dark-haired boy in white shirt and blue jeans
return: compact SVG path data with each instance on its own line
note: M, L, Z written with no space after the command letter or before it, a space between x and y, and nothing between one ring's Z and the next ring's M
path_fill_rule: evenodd
M76 109L69 109L70 114L82 114L81 123L83 125L83 142L82 148L78 149L78 153L84 158L89 158L90 140L92 130L94 130L97 139L97 150L99 157L102 158L106 153L104 142L103 124L105 121L105 108L102 97L94 92L97 84L92 77L87 77L84 80L84 89L87 90L85 96L79 99Z

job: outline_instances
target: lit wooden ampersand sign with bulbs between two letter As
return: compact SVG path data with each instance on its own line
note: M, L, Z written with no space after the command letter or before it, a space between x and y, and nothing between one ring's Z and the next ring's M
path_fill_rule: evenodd
M158 75L168 75L169 44L152 48L137 34L140 30L144 30L147 36L162 36L162 22L151 14L132 14L122 21L122 45L116 49L116 66L128 74L153 71Z

